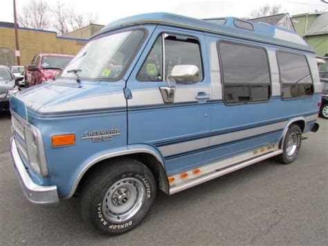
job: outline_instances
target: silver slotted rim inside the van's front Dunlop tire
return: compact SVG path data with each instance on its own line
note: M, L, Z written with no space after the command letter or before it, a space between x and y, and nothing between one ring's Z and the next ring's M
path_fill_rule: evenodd
M102 200L104 216L113 222L129 220L145 202L145 186L135 177L118 180Z

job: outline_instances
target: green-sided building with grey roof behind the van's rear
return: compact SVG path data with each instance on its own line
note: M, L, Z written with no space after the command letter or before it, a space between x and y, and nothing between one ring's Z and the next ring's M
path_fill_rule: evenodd
M328 56L328 12L293 15L292 18L296 32L318 55Z

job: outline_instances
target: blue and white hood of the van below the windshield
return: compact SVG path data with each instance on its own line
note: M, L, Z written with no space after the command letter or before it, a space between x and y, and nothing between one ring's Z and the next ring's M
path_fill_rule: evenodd
M126 108L125 81L99 82L57 79L21 91L10 98L10 109L26 118L85 114ZM24 107L24 108L22 108ZM25 113L24 113L25 111Z

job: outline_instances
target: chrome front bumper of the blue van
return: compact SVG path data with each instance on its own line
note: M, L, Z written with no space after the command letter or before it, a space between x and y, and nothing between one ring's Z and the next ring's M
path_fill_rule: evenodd
M15 137L10 138L10 150L19 184L26 198L40 205L52 205L59 202L57 186L39 186L30 178L17 150Z

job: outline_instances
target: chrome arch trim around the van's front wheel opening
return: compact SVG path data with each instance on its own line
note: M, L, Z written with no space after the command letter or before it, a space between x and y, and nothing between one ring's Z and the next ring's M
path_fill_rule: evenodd
M92 161L90 161L88 164L86 164L84 166L84 168L82 168L82 170L80 170L80 173L78 174L78 176L75 178L75 181L71 188L71 191L70 191L69 195L67 197L65 197L65 199L70 198L74 195L76 188L78 188L78 184L80 183L80 180L82 179L82 177L86 173L86 171L89 170L89 168L91 168L91 166L97 164L99 161L103 161L104 159L110 159L113 157L120 157L123 155L131 155L131 154L138 154L138 153L140 153L140 154L146 153L146 154L153 155L161 163L161 165L163 166L163 169L165 170L165 166L164 166L162 157L152 150L148 150L145 148L139 148L139 149L134 149L134 150L124 150L124 151L112 152L112 153L97 157L97 158L93 159Z

